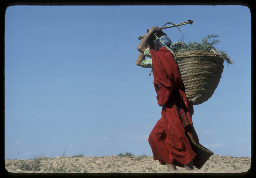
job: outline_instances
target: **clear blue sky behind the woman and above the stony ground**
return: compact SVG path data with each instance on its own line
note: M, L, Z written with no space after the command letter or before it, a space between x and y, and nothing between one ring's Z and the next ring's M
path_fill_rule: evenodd
M251 13L246 6L10 6L5 14L5 159L124 152L152 155L161 118L151 69L135 65L138 36L180 26L185 42L221 35L224 63L192 120L205 147L251 157ZM164 32L172 42L177 28Z

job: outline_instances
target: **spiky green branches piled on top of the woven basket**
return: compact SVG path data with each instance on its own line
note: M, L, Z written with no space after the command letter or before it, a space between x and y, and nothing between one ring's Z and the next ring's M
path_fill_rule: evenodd
M223 58L224 60L226 60L227 65L228 64L233 64L233 60L231 60L226 51L225 50L217 50L214 45L220 43L219 40L214 39L217 37L220 37L220 35L215 35L215 34L211 34L211 35L206 35L202 42L199 43L197 41L191 42L189 41L189 43L185 43L183 40L184 35L182 36L182 39L180 39L180 41L172 43L172 47L171 49L173 50L173 52L182 52L182 51L188 51L188 50L205 50L205 51L214 51L216 54L218 54L221 58ZM209 42L209 39L212 38L212 41Z

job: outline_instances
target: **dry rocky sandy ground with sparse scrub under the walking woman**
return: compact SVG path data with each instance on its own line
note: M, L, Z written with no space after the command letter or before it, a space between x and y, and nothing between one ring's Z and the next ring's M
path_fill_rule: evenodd
M201 169L177 167L177 173L241 173L250 167L250 157L212 155ZM5 169L11 173L173 173L152 156L134 155L6 159Z

